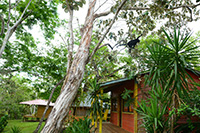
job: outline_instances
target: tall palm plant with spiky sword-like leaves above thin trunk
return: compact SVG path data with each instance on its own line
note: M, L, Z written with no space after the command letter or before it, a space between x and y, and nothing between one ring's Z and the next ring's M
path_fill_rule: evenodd
M191 33L183 32L174 28L173 34L164 31L166 40L155 42L148 46L150 52L148 57L148 67L150 73L146 78L146 83L157 90L160 86L166 91L172 109L176 109L180 104L180 99L187 96L189 89L192 89L192 77L186 69L192 69L198 64L198 47L194 44L196 40L190 41ZM150 80L149 80L150 79ZM171 132L175 115L171 116Z

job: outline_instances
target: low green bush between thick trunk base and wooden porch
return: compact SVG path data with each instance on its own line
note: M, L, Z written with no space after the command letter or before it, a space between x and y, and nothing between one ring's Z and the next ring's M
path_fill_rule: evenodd
M91 126L91 119L84 117L83 119L73 119L70 125L66 128L67 133L89 133Z

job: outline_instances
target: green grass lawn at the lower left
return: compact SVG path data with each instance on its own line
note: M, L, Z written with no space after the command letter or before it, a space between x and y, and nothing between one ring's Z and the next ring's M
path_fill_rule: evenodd
M22 122L22 120L8 120L8 125L4 129L3 133L11 132L11 128L14 126L19 127L22 133L32 133L36 129L38 123L39 122ZM42 123L42 127L44 126L44 124L45 122Z

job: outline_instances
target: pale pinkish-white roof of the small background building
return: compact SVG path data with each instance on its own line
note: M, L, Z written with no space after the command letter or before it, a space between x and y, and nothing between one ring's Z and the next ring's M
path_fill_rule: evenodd
M35 99L31 101L25 101L25 102L20 102L20 104L27 104L27 105L47 105L47 100L42 100L42 99ZM54 106L54 103L50 102L49 106Z

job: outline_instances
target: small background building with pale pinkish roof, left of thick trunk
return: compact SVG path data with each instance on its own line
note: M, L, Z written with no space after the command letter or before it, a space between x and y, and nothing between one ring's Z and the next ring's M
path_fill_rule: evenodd
M24 115L24 119L28 118L37 118L41 119L42 115L45 111L46 105L47 105L47 100L42 100L42 99L36 99L36 100L31 100L31 101L25 101L25 102L20 102L20 104L26 104L31 106L31 114L26 114ZM45 114L45 118L47 118L54 106L54 103L50 102L49 108Z

